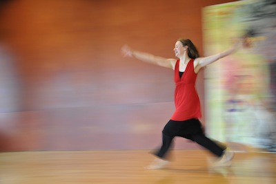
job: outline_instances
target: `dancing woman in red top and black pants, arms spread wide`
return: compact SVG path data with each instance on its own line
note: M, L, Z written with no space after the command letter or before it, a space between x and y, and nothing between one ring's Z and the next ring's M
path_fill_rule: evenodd
M125 57L135 57L141 61L149 62L171 68L175 71L175 113L162 131L162 145L155 153L157 158L148 169L161 169L166 167L168 161L168 151L172 140L176 137L187 138L197 142L217 156L217 161L213 166L229 166L233 158L233 152L226 151L226 147L217 145L216 142L207 138L204 134L201 122L201 107L199 96L195 89L197 73L208 64L226 57L237 50L239 44L224 52L208 57L199 57L195 45L190 39L179 39L175 43L175 57L178 59L167 59L152 55L150 53L132 50L129 46L121 49Z

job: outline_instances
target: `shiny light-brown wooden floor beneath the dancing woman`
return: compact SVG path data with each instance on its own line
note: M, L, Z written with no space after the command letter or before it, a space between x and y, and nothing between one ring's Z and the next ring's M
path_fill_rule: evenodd
M227 168L208 167L203 150L174 150L168 169L146 170L146 150L30 151L0 154L1 184L276 183L276 154L236 153Z

